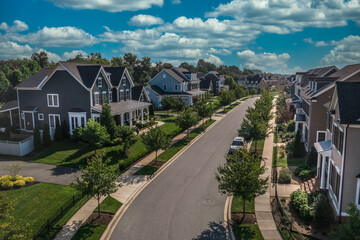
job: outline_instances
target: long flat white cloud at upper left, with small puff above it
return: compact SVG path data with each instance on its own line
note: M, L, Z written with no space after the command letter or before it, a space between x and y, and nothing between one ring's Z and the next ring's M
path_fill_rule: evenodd
M20 31L25 29L25 26L27 25L21 22L16 25L16 29ZM5 34L0 35L0 40L28 43L39 47L83 47L99 43L96 37L76 27L44 27L28 34L6 30Z

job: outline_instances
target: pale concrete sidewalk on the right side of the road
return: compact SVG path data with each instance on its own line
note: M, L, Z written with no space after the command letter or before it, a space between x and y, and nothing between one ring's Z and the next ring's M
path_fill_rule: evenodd
M272 113L275 113L276 108L272 109ZM270 124L275 124L275 119L270 120ZM276 239L281 240L281 236L275 225L275 221L271 211L270 205L270 192L272 188L271 182L271 170L272 170L272 156L273 156L273 139L274 134L270 133L265 139L263 155L261 165L266 167L265 173L261 175L261 178L269 178L268 192L255 198L255 215L258 222L259 229L265 240Z

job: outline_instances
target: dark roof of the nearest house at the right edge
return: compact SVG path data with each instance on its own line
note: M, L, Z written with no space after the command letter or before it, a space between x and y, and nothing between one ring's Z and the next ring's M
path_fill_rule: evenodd
M360 82L337 82L340 123L360 124Z

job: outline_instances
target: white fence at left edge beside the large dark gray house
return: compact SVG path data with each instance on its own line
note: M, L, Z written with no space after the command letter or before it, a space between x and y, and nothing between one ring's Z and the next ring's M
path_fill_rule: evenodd
M0 141L0 154L11 156L25 156L34 151L34 137L30 136L22 141Z

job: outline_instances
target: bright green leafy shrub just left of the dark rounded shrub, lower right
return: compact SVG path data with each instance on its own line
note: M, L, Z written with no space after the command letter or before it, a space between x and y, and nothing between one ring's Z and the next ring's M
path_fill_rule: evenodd
M311 207L309 206L309 194L302 190L297 190L290 194L291 205L299 213L303 220L311 219Z

